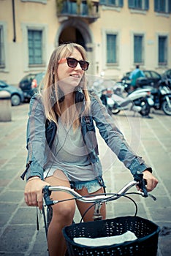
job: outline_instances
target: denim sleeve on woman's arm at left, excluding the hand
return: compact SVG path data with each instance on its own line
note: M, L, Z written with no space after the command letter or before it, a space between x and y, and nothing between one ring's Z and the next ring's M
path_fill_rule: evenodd
M27 180L31 176L39 176L43 179L44 165L47 160L46 144L44 110L41 98L34 96L30 102L27 125L27 162L29 162L26 172Z

